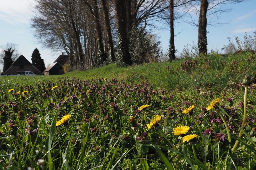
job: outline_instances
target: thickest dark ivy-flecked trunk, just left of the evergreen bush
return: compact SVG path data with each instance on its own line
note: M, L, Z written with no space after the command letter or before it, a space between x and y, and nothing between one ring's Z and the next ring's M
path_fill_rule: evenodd
M126 26L126 0L115 0L116 20L118 30L118 52L121 62L132 65L131 54L129 52L129 39Z

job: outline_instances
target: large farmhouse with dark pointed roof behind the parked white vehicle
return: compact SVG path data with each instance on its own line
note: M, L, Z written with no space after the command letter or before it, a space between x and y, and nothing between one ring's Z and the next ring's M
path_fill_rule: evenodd
M20 55L3 75L17 75L24 73L24 71L31 71L37 75L41 73L40 70L32 65L23 55Z

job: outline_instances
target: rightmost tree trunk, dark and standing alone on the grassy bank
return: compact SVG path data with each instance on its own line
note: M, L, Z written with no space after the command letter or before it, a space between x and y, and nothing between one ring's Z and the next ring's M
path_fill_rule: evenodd
M198 48L199 54L207 54L207 9L208 0L201 0L199 27L198 27Z

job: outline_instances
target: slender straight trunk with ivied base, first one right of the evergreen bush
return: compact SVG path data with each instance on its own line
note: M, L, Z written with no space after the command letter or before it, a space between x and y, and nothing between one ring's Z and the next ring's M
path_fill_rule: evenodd
M169 41L169 60L175 60L175 46L174 46L174 28L173 28L173 0L170 0L170 41Z

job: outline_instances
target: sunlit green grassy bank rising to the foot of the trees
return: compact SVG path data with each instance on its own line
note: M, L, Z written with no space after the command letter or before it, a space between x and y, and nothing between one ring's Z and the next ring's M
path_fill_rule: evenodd
M139 66L119 67L110 64L89 71L69 72L65 75L80 79L115 78L125 82L148 80L155 87L224 87L238 83L246 74L256 74L255 54L220 55L212 53L196 59L179 59L174 62L148 63Z

